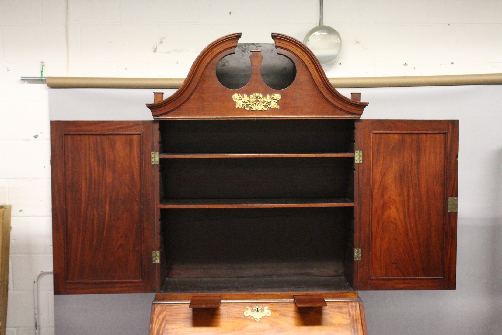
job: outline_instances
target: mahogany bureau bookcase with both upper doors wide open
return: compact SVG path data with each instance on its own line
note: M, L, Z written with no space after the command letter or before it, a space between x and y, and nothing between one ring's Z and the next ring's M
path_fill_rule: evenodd
M357 290L454 289L458 121L359 120L302 43L239 37L154 121L51 123L54 293L157 292L152 334L366 334Z

